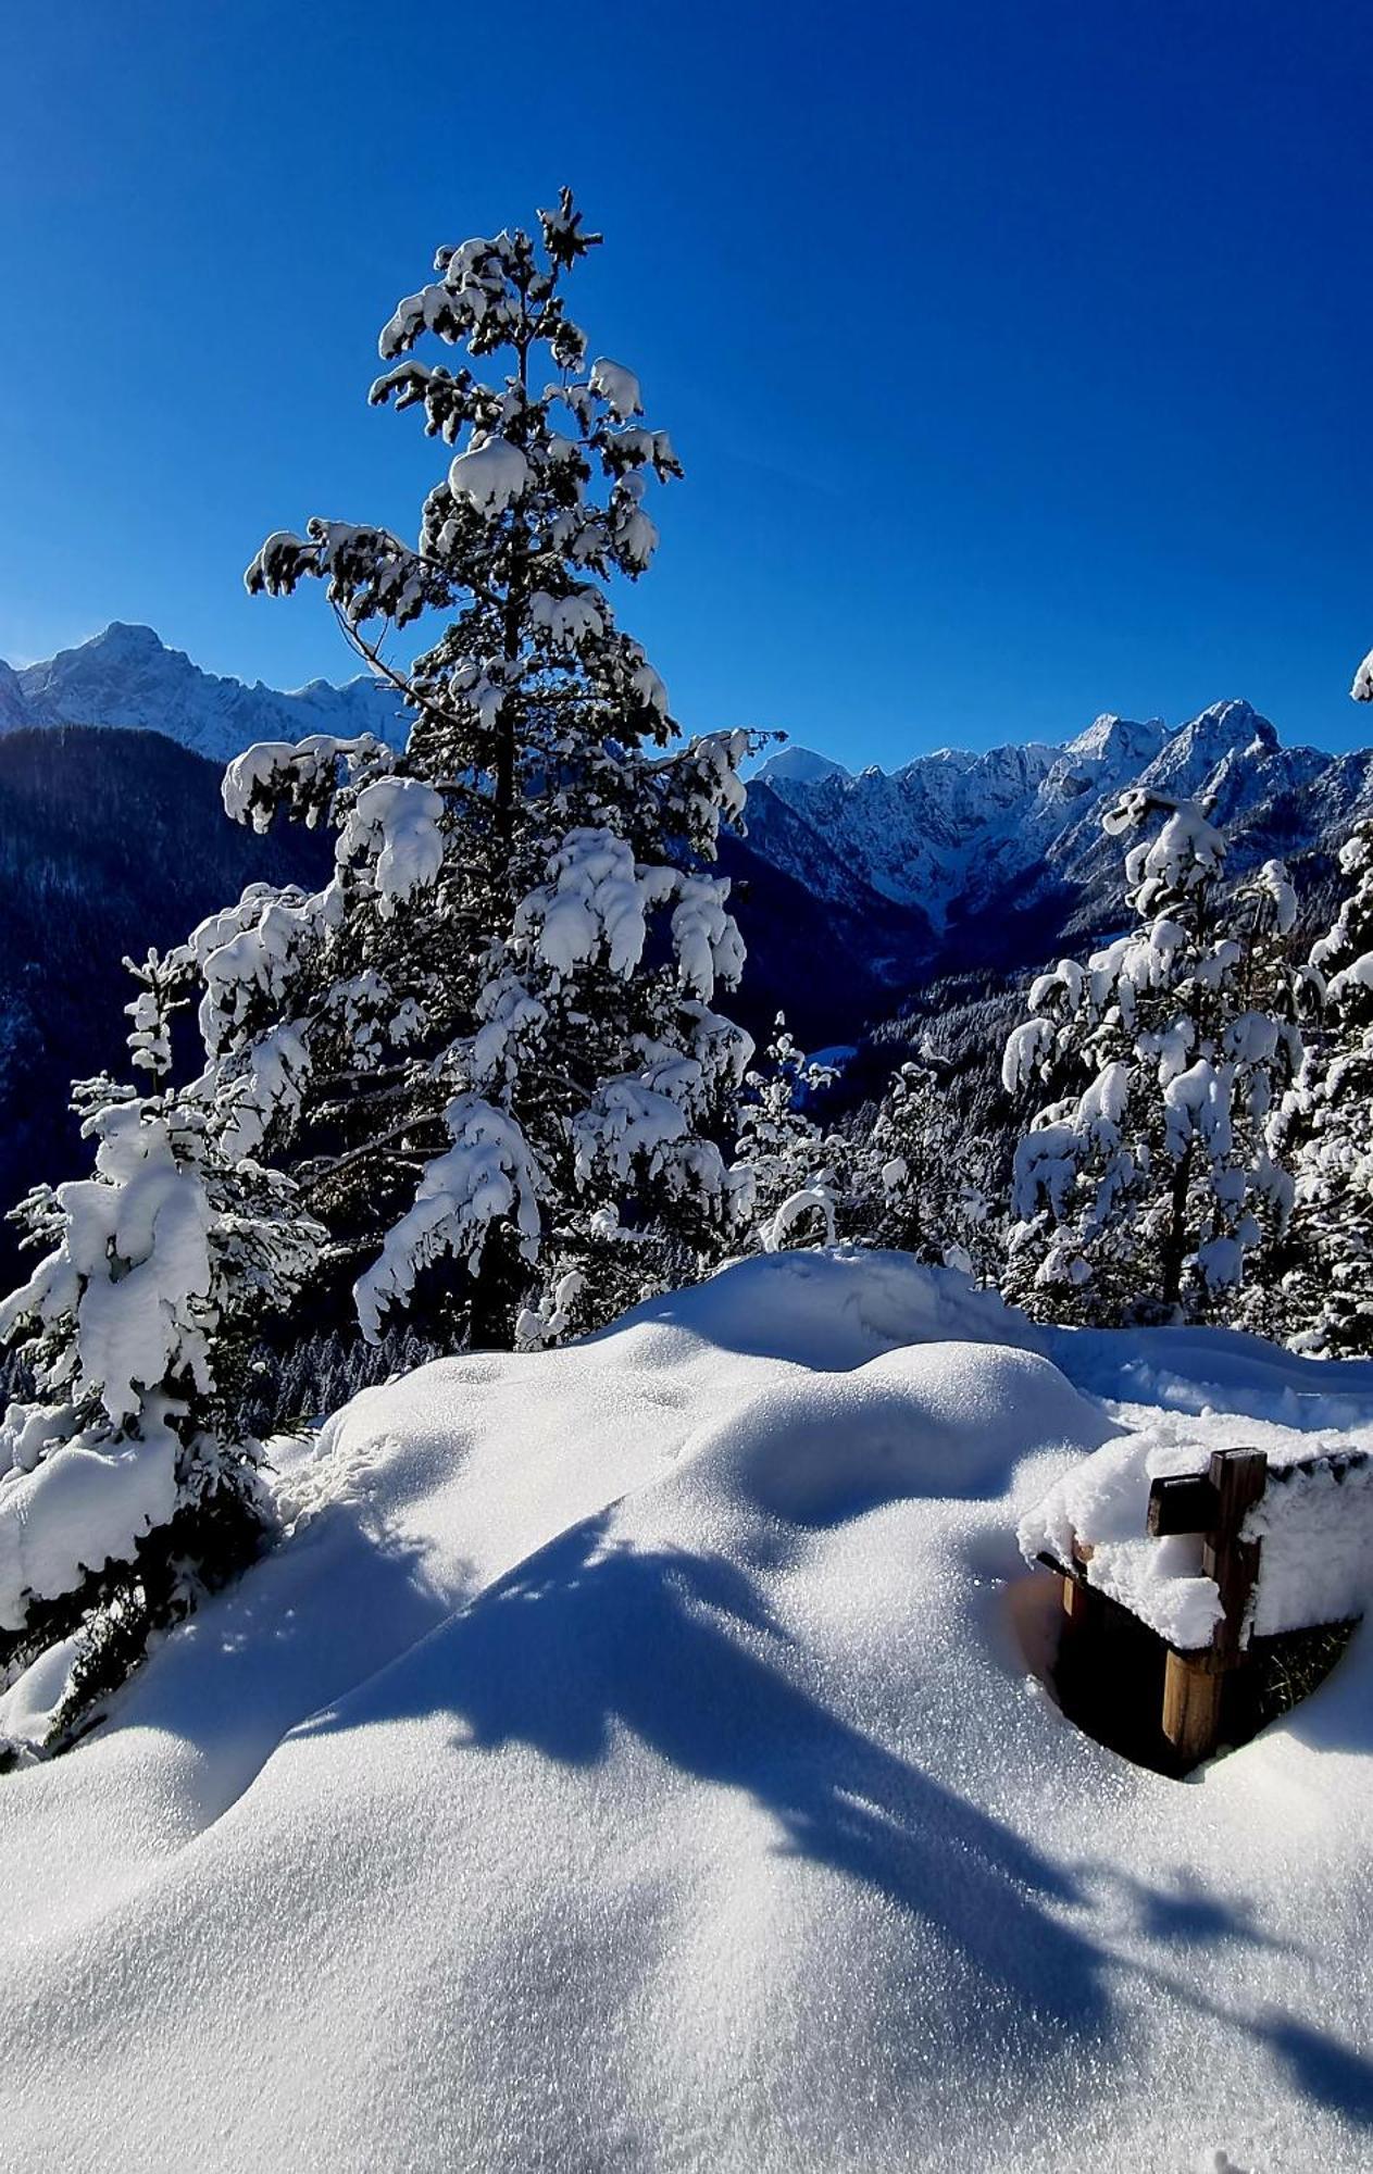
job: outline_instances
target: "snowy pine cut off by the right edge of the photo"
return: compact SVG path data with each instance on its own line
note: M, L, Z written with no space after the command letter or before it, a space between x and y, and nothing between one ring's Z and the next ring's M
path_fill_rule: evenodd
M1373 822L1340 867L1351 891L1310 954L1319 1024L1284 1107L1299 1141L1290 1326L1330 1354L1373 1352Z

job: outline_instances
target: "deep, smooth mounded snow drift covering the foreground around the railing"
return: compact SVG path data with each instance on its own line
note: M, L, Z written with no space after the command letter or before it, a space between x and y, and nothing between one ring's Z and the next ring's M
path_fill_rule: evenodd
M1373 1639L1180 1785L1015 1633L1084 1452L1256 1415L1369 1441L1373 1365L1041 1335L893 1254L367 1391L285 1546L0 1783L0 2157L1366 2167Z

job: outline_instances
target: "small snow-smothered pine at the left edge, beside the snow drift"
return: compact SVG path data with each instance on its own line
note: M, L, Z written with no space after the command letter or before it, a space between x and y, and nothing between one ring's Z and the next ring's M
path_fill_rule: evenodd
M156 1074L152 1009L130 1007ZM0 1304L35 1380L0 1415L0 1681L67 1646L52 1746L259 1550L261 1448L235 1415L324 1239L287 1178L226 1161L204 1109L109 1078L76 1107L93 1176L20 1204L43 1257Z

